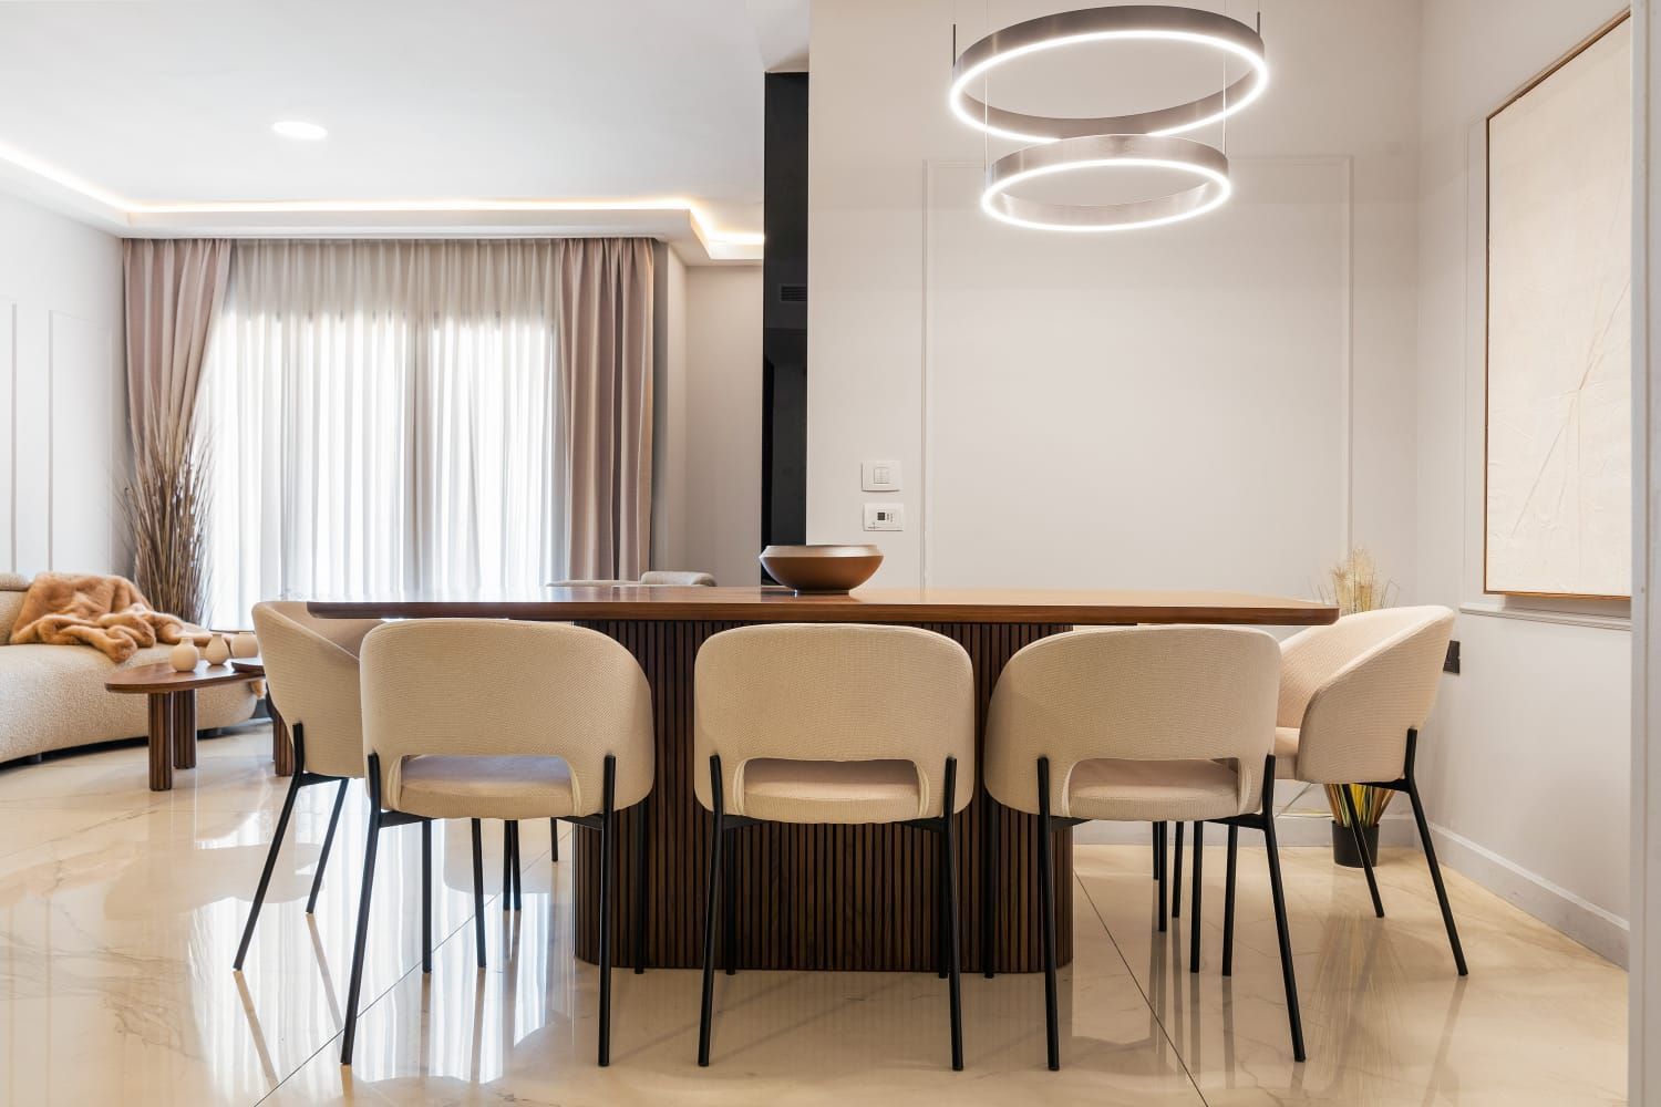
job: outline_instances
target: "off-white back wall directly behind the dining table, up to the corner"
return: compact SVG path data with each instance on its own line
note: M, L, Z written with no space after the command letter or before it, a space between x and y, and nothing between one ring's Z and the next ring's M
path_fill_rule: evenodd
M1239 202L1071 237L973 211L945 88L982 5L814 5L811 541L872 538L859 463L899 458L877 584L1309 593L1354 538L1412 591L1417 5L1264 7Z

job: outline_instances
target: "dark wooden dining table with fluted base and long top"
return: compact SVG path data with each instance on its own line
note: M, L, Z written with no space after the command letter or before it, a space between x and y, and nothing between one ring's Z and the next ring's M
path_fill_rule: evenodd
M646 800L644 873L635 870L633 818L618 820L611 949L631 966L626 928L646 896L646 968L696 968L703 956L709 815L694 793L693 669L714 634L761 622L917 626L957 641L975 672L977 765L998 672L1022 647L1075 627L1133 624L1317 626L1332 604L1229 591L1060 591L1008 588L860 588L796 594L779 586L543 588L522 597L400 594L314 599L334 619L530 619L575 622L628 649L651 685L656 785ZM533 679L528 674L528 679ZM832 679L827 675L827 679ZM963 969L1041 969L1038 820L990 800L975 783L957 815ZM600 835L576 828L571 895L580 958L600 958ZM938 966L940 850L904 825L759 823L726 850L723 909L736 926L729 968L933 971ZM1055 830L1056 961L1073 953L1073 833ZM990 903L988 903L990 901ZM992 926L985 921L992 919ZM724 926L724 924L723 924Z

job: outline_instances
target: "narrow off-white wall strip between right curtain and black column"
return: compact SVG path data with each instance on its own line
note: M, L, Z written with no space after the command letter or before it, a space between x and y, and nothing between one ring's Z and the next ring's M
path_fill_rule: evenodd
M761 553L761 266L686 271L684 568L756 584Z

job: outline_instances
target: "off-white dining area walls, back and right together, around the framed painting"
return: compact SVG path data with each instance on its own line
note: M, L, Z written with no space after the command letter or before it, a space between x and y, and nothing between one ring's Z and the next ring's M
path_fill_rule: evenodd
M809 539L862 538L859 461L900 458L879 584L1307 594L1354 543L1404 602L1488 602L1480 124L1618 0L1262 7L1239 204L1078 241L970 209L943 98L983 5L814 3ZM1621 956L1629 636L1596 614L1462 616L1422 778L1448 863Z

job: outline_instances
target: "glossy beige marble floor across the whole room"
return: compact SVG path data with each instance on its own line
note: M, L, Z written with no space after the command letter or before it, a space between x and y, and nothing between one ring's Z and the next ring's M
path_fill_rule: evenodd
M171 793L145 752L0 772L0 1102L27 1104L1613 1104L1626 976L1450 875L1458 981L1417 853L1387 851L1390 918L1325 850L1287 850L1309 1062L1286 1039L1264 856L1241 853L1239 946L1218 976L1221 850L1208 851L1203 973L1186 919L1151 926L1148 851L1078 850L1078 958L1061 974L1063 1069L1043 1067L1036 976L963 979L968 1067L947 1066L928 974L718 978L699 1070L696 973L615 978L613 1067L593 1064L596 973L570 954L568 866L525 830L525 909L493 898L473 968L465 823L445 827L442 936L420 973L419 831L380 846L357 1064L337 1064L362 856L342 817L304 914L331 788L297 808L246 973L231 958L286 782L264 730L203 742ZM570 831L566 831L570 833ZM1252 835L1244 835L1251 838ZM1218 835L1221 838L1221 835ZM500 850L498 830L487 843ZM566 853L568 855L568 853Z

